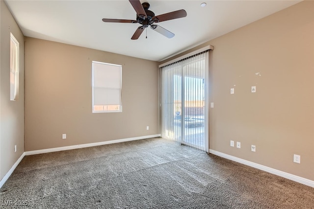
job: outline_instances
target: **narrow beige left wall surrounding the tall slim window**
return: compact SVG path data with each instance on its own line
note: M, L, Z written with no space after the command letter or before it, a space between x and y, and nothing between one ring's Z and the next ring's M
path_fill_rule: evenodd
M10 32L20 44L20 93L10 101ZM24 152L24 35L0 0L0 180ZM14 152L17 145L17 152Z

